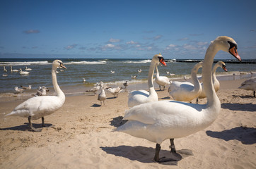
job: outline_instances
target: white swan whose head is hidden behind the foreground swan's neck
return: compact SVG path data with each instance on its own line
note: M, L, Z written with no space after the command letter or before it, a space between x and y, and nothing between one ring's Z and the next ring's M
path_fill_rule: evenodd
M197 71L202 68L202 62L194 65L191 70L192 83L190 82L178 82L174 81L170 83L168 92L170 96L176 101L189 101L191 103L192 99L197 98L202 92L201 84L197 79Z

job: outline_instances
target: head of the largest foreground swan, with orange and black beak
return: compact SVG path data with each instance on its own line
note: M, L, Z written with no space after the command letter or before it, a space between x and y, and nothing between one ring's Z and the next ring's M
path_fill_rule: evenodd
M235 40L231 37L221 36L217 37L213 42L219 44L219 49L229 52L231 55L233 55L235 58L238 59L238 61L241 61L240 56L238 55L238 45L236 44Z

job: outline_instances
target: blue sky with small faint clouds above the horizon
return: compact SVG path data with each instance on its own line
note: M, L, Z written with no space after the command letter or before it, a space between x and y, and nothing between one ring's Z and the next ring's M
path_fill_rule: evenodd
M0 58L202 59L223 35L256 58L255 0L0 1Z

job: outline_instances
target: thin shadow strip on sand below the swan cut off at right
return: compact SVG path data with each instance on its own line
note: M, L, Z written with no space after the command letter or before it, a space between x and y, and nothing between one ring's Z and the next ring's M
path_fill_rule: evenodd
M221 104L221 108L228 108L231 111L256 111L255 104Z

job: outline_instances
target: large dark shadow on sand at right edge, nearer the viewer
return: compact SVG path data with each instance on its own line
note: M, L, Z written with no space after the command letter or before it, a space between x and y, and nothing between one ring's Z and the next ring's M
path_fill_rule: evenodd
M242 144L255 144L256 143L256 128L254 127L235 127L229 130L223 130L222 132L206 131L206 134L210 137L223 139L229 141L236 139Z

